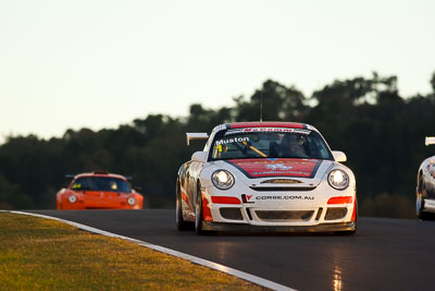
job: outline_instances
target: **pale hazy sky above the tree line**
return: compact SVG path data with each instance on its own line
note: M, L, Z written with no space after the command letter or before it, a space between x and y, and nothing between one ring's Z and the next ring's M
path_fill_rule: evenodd
M216 108L272 78L306 95L397 75L431 90L433 0L2 0L0 141Z

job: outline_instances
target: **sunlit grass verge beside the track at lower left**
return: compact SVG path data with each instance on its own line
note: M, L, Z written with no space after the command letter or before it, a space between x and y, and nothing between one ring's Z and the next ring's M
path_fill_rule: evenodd
M44 218L0 213L0 290L261 290L236 277Z

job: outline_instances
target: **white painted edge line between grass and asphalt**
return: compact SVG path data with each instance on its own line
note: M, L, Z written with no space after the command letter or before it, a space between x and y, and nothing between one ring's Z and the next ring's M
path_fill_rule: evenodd
M110 237L110 238L117 238L117 239L130 241L130 242L134 242L136 244L141 245L141 246L146 246L148 248L151 248L151 250L154 250L154 251L158 251L158 252L161 252L161 253L165 253L165 254L169 254L169 255L172 255L172 256L184 258L184 259L187 259L187 260L189 260L191 263L195 263L195 264L198 264L198 265L201 265L201 266L206 266L206 267L209 267L209 268L214 269L214 270L220 270L222 272L238 277L238 278L244 279L246 281L250 281L252 283L256 283L256 284L259 284L259 286L272 289L272 290L296 291L296 289L291 289L289 287L286 287L286 286L283 286L283 284L279 284L279 283L275 283L273 281L263 279L261 277L258 277L258 276L254 276L254 275L241 271L241 270L233 269L233 268L226 267L224 265L221 265L221 264L217 264L217 263L214 263L214 262L211 262L211 260L207 260L207 259L203 259L203 258L200 258L200 257L188 255L188 254L185 254L185 253L182 253L182 252L177 252L177 251L174 251L174 250L171 250L171 248L167 248L167 247L164 247L164 246L160 246L160 245L157 245L157 244L144 242L144 241L136 240L136 239L133 239L133 238L120 235L120 234L116 234L116 233L112 233L112 232L109 232L109 231L105 231L105 230L96 229L96 228L88 227L88 226L85 226L85 225L82 225L82 223L77 223L77 222L74 222L74 221L61 219L61 218L58 218L58 217L33 214L33 213L25 213L25 211L14 211L14 210L0 210L0 211L8 211L8 213L12 213L12 214L28 215L28 216L35 216L35 217L57 220L57 221L60 221L60 222L76 227L78 229L83 229L83 230L89 231L89 232L98 233L98 234Z

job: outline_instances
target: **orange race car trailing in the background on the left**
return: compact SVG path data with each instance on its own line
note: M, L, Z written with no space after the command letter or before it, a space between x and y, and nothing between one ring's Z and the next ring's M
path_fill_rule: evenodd
M127 178L109 172L80 173L55 195L58 209L142 209L144 197Z

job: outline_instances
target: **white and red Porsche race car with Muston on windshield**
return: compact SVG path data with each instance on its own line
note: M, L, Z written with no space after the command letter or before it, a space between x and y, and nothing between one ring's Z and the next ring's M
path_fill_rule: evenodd
M311 125L221 124L178 170L176 226L206 231L357 230L356 180Z

